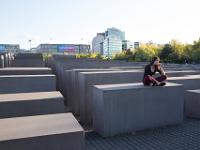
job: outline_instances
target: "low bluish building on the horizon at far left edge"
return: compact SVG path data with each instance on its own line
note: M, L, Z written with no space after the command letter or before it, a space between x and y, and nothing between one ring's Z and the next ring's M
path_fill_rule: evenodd
M20 50L19 44L0 44L0 52L18 52Z

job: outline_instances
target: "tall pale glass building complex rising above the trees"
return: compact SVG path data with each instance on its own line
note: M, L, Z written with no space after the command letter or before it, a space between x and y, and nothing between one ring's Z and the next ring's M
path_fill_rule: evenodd
M108 28L104 33L97 33L92 40L93 52L104 56L112 55L122 51L122 41L125 40L125 32L117 28Z

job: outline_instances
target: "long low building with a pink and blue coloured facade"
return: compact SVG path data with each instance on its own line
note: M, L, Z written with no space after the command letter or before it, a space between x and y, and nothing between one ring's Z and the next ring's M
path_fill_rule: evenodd
M36 48L40 53L67 53L67 54L79 54L89 53L90 45L86 44L40 44Z

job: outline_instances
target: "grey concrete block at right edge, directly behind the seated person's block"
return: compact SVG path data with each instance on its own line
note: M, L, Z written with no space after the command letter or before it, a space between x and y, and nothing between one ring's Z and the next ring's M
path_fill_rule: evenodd
M179 83L184 85L185 90L200 89L200 75L188 75L183 77L170 77L169 82Z

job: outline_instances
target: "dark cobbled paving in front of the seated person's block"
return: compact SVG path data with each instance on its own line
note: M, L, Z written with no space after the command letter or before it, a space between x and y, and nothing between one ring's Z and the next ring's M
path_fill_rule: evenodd
M200 150L200 120L112 138L88 132L86 150Z

